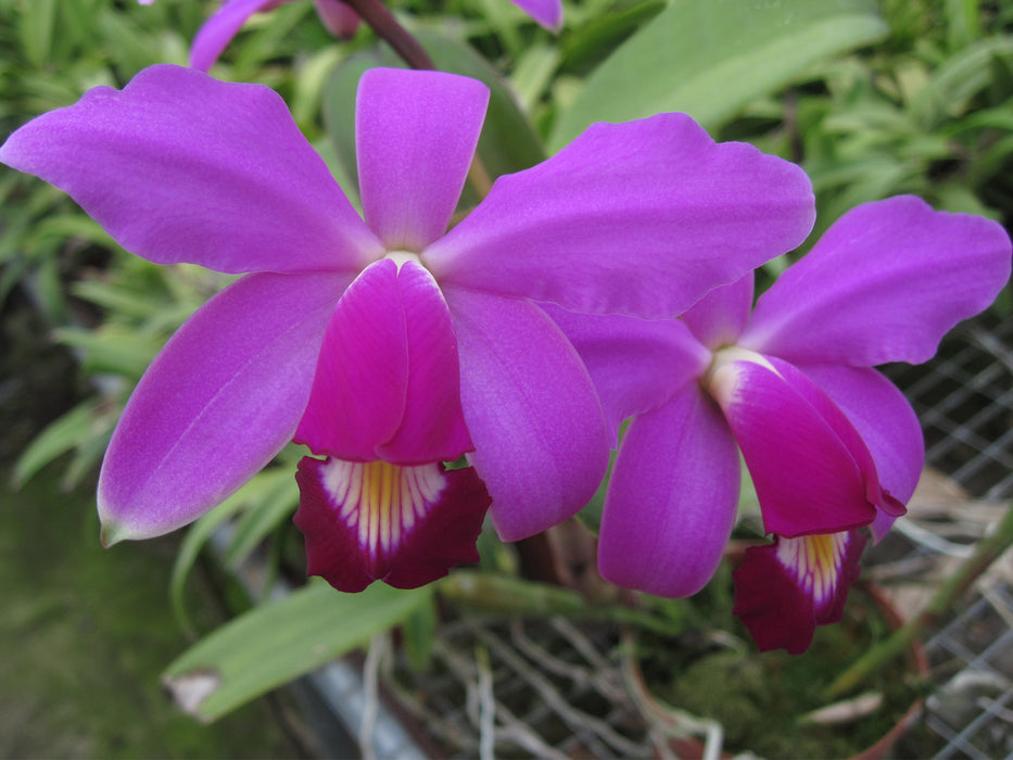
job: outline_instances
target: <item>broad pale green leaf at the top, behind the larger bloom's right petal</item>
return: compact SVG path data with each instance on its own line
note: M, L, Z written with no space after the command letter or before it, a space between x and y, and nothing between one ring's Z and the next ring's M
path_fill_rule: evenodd
M595 122L662 111L712 128L814 61L886 34L872 0L678 0L587 77L550 151Z

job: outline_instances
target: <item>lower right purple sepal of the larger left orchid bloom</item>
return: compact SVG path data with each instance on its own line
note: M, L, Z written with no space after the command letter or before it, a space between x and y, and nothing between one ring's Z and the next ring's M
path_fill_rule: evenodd
M444 288L460 352L468 458L504 541L577 514L608 466L605 415L587 370L534 304Z

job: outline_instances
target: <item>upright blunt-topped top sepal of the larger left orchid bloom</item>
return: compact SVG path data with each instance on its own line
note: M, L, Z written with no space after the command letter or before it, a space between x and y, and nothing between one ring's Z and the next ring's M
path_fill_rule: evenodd
M418 253L443 235L482 131L477 79L371 68L358 85L355 153L366 223L388 250Z

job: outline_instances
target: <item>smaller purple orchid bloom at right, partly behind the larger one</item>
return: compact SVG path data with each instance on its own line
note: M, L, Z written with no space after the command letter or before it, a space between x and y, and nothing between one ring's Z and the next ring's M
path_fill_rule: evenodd
M587 363L611 428L633 417L606 495L602 574L699 591L736 518L739 454L769 545L735 570L735 612L763 649L803 651L840 619L865 544L917 483L924 443L872 367L930 358L1010 277L1003 228L913 197L841 217L752 307L750 273L680 320L548 307ZM750 315L751 311L751 315Z

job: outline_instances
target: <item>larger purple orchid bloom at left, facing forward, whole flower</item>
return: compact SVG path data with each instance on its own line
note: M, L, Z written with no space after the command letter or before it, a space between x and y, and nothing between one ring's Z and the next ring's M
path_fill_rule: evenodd
M447 231L487 98L451 74L367 72L365 220L274 91L192 68L96 88L0 148L127 250L250 273L127 404L99 479L106 543L190 522L293 438L324 457L300 466L296 522L311 572L339 588L473 558L490 497L504 540L545 530L594 493L609 441L534 302L673 318L811 228L801 169L660 114L591 127ZM444 472L463 454L473 469Z

